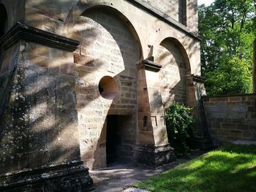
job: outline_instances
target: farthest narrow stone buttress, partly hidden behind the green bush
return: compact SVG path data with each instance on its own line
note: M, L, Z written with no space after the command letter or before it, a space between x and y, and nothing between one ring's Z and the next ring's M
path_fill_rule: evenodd
M205 78L189 74L187 75L187 107L193 107L195 117L195 131L198 135L193 141L195 147L206 149L211 147L211 137L208 132L206 115L203 107L203 96L206 96L204 88Z

